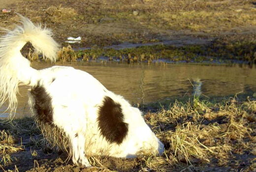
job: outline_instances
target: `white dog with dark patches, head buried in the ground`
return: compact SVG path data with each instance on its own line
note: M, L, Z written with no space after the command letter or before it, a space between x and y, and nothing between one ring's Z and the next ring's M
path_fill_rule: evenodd
M51 61L56 60L59 45L49 29L19 16L22 26L4 29L7 33L0 38L0 106L8 102L11 118L17 107L18 86L27 85L31 86L32 114L41 124L64 132L74 164L91 166L86 155L128 158L163 153L163 144L141 112L92 75L65 66L33 69L20 52L27 42Z

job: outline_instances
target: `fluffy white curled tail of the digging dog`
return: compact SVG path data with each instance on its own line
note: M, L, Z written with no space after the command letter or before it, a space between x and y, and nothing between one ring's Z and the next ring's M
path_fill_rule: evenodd
M6 111L10 117L17 108L18 86L33 86L38 79L37 70L30 67L30 61L20 52L23 46L31 42L36 52L51 61L56 60L59 50L51 30L35 26L28 18L18 15L22 26L14 30L3 29L7 34L0 37L0 106L8 103Z

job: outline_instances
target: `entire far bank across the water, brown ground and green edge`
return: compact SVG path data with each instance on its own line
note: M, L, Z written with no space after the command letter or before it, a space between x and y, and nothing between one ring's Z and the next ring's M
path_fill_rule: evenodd
M53 29L54 39L63 46L60 62L103 58L128 63L256 63L254 0L32 0L17 1L10 8ZM1 27L13 29L17 21L13 12L0 13ZM90 48L74 52L65 43L69 36L82 37L73 48ZM166 40L192 45L102 48ZM38 60L32 51L28 58Z

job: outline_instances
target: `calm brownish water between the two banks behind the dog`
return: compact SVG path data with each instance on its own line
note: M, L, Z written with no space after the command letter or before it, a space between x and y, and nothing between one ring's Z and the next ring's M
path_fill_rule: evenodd
M32 63L43 69L50 63ZM123 95L130 103L149 103L192 94L227 96L256 92L256 68L238 65L65 63L92 74L107 89ZM20 86L16 116L30 116L27 88ZM5 107L0 108L4 112ZM4 116L4 114L2 115Z

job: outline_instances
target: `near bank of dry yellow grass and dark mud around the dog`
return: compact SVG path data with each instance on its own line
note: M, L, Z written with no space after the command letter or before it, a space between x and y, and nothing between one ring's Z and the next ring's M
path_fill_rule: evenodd
M170 104L169 108L161 109L158 113L148 112L144 117L165 144L164 154L160 157L141 156L130 160L90 157L89 160L97 167L97 171L204 170L210 172L219 169L250 172L256 170L256 100L254 98L241 101L235 97L218 103L201 101L198 98L186 103L176 101ZM6 162L1 163L4 169L14 170L14 165L19 164L19 159L13 156L13 152L23 149L19 144L14 145L13 138L19 140L20 137L30 135L29 144L24 146L36 150L36 152L31 151L32 159L36 158L38 149L47 150L48 153L51 150L51 154L55 154L54 152L60 154L60 149L56 149L55 145L65 147L64 152L68 152L68 142L64 140L62 132L57 131L55 127L40 127L38 124L45 138L49 140L47 143L32 118L13 122L14 126L1 124L0 147L6 146L0 150L6 152L5 159L13 160L11 162L1 158L1 161ZM7 145L12 147L8 148ZM65 161L68 157L66 153L62 153L63 160L41 161L34 170L50 168L51 171L55 169L58 172L59 168L66 168L75 171L78 167L64 165L71 164L68 159ZM58 164L59 161L62 161L61 165ZM44 163L49 164L40 166ZM17 168L21 167L17 166ZM81 167L79 168L81 170Z

